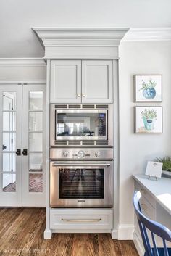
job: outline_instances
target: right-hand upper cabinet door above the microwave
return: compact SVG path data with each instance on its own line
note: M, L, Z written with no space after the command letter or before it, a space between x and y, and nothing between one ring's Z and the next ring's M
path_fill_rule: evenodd
M82 102L112 103L112 60L82 62Z

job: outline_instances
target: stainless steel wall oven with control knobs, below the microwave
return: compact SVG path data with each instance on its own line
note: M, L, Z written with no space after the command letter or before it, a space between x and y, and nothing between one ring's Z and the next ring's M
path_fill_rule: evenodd
M51 149L51 207L112 207L112 149L102 152L103 149ZM65 158L69 160L64 161Z

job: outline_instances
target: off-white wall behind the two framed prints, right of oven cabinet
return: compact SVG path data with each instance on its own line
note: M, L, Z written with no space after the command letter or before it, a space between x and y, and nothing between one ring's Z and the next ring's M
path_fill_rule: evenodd
M133 224L133 178L147 160L171 155L171 42L123 42L120 46L120 226ZM133 75L162 74L162 134L134 134Z

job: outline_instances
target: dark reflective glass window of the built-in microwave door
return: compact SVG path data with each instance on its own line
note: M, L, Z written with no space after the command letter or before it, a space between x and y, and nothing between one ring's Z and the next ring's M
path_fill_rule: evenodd
M56 112L56 140L59 136L105 137L107 136L106 115L106 112Z

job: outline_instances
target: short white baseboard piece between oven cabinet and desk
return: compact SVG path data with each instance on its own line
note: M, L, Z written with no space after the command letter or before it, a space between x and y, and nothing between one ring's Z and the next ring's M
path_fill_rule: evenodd
M118 240L133 240L133 224L119 224Z

